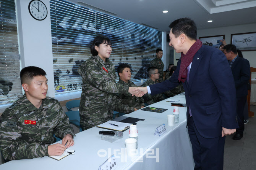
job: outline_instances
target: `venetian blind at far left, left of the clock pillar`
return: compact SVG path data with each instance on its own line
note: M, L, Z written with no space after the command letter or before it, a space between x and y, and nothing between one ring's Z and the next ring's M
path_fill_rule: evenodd
M15 0L0 0L0 105L22 96Z

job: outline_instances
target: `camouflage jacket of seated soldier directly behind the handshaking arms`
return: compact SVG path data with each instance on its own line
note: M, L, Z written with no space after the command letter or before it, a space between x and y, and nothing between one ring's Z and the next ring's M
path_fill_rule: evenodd
M129 87L138 87L132 81L125 83L119 79L118 84L122 84ZM122 113L131 113L134 111L134 108L141 109L141 106L145 107L143 97L135 97L129 94L117 94L117 99L115 102L115 111L120 111Z

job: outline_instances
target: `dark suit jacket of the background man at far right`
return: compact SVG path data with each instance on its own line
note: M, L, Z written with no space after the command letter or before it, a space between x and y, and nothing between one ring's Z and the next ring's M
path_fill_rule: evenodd
M248 60L237 57L232 64L231 71L235 80L237 97L245 97L248 94L248 81L250 79L251 68Z

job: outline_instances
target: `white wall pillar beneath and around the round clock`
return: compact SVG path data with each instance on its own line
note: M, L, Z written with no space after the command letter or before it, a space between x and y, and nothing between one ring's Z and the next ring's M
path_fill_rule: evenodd
M47 6L48 14L43 21L37 21L29 14L30 1L16 0L15 3L21 68L37 66L44 69L49 80L47 96L54 97L50 2L41 0Z

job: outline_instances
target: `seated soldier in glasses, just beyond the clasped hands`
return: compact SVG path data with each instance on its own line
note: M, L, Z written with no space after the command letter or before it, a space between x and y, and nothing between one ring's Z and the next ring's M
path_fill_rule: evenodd
M149 78L147 79L147 81L145 81L144 84L142 84L141 87L146 87L146 86L149 86L151 84L156 84L157 83L156 80L159 78L158 69L154 66L149 67L147 69L147 73L149 75ZM147 103L148 105L151 105L153 103L160 102L161 100L164 100L164 97L161 93L156 94L156 95L151 95L151 94L147 93L147 94L143 95L143 99L144 99L145 103Z

